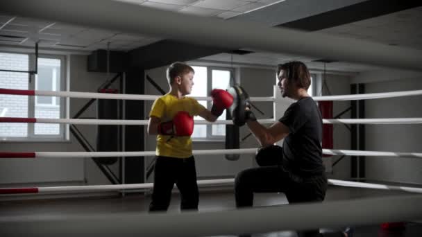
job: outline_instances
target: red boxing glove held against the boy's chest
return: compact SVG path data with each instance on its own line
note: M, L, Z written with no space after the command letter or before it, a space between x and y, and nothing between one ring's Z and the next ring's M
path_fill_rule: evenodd
M163 135L190 136L194 132L194 118L188 112L178 112L173 121L160 123L158 132Z

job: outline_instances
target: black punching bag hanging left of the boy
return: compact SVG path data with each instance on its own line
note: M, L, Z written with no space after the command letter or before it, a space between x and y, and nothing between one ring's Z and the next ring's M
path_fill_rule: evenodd
M117 93L117 89L101 89L100 93ZM97 100L97 119L119 119L117 117L117 103L119 100ZM97 125L96 150L99 152L115 152L119 149L119 126L117 125ZM117 157L99 157L99 161L104 165L112 165L117 162Z

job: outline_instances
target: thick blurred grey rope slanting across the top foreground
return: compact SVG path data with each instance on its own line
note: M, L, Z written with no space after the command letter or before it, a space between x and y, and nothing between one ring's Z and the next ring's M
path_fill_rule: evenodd
M101 6L101 7L99 7ZM255 49L422 71L422 51L401 46L183 15L110 0L0 1L1 12L151 35L224 49Z

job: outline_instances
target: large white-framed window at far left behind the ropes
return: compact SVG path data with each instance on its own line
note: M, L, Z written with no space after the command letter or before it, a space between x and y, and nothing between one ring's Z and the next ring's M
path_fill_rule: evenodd
M0 69L28 71L35 68L35 55L0 53ZM37 75L31 80L28 73L0 71L0 87L65 90L65 57L40 55ZM0 95L0 116L21 118L60 119L65 117L65 98L51 96ZM2 140L57 140L65 138L65 125L51 123L0 123Z

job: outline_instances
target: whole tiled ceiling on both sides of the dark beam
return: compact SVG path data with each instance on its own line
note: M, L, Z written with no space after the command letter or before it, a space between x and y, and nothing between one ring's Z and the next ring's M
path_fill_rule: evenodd
M274 0L118 0L134 6L160 8L183 14L193 14L202 17L219 17L230 20L250 12L271 9L286 1ZM382 44L405 46L412 49L422 49L422 7L410 8L387 15L354 21L340 26L318 30L320 33L351 37ZM29 19L13 15L2 15L0 12L0 47L27 46L33 47L39 42L42 49L77 50L90 53L96 49L130 51L140 46L163 40L148 35L134 35L118 31L101 30L84 26L74 26L54 21ZM312 40L312 39L310 39ZM253 49L251 49L253 51ZM250 64L263 67L273 67L288 60L302 60L312 69L330 71L361 72L377 69L376 67L350 64L346 62L314 62L318 58L282 53L255 52L246 55L219 53L199 59L203 62L233 62L235 64Z

